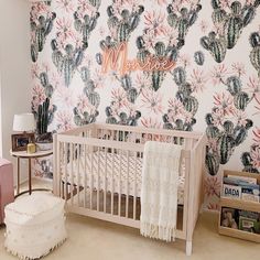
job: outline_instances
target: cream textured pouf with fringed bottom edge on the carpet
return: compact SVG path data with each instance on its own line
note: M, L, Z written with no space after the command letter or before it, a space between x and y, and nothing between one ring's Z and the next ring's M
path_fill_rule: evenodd
M62 245L67 237L64 204L48 193L33 193L9 204L6 249L21 259L36 259Z

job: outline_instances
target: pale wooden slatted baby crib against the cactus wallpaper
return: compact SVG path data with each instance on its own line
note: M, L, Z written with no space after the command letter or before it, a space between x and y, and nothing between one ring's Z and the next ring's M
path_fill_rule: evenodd
M54 136L54 194L68 212L140 228L141 170L148 140L183 145L176 237L192 239L203 199L202 133L91 123Z

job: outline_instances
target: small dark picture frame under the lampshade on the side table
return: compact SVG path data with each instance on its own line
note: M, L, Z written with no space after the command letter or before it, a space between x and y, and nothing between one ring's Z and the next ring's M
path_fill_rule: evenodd
M30 142L35 142L34 133L25 132L12 134L12 151L26 151L26 147Z

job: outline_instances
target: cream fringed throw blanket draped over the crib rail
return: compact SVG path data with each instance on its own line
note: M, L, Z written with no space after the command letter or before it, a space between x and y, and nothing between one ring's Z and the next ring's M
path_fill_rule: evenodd
M141 235L175 240L181 145L144 144L141 188Z

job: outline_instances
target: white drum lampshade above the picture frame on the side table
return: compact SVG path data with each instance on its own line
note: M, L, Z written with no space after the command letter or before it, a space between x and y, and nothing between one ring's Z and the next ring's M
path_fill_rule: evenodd
M14 115L12 130L18 132L34 131L34 116L33 113Z

